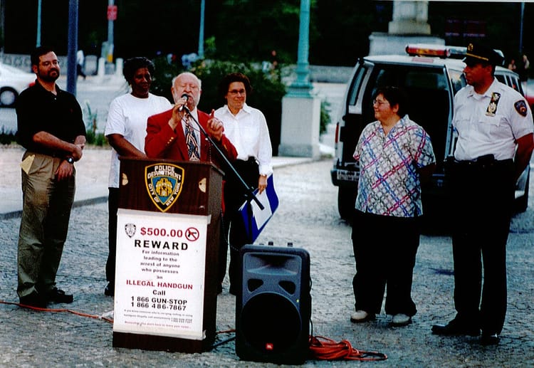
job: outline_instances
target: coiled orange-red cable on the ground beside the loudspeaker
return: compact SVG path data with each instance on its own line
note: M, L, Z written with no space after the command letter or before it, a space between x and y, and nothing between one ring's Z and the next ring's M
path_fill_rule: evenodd
M321 341L323 340L323 341ZM335 342L322 336L310 336L310 354L323 360L385 360L387 355L381 352L365 352L352 347L348 340Z

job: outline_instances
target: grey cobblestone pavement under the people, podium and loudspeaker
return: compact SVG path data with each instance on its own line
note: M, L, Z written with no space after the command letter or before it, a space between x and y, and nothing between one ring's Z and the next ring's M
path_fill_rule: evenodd
M355 262L350 226L337 215L337 189L330 183L330 160L275 169L280 207L257 243L273 241L310 253L312 322L315 336L349 340L357 349L387 354L384 362L327 362L308 359L304 367L533 367L534 295L533 204L513 219L508 246L508 315L501 344L478 345L473 337L437 337L430 327L454 317L451 242L448 236L422 236L414 270L414 323L392 328L390 316L352 324L352 275ZM532 190L532 188L531 188ZM58 286L75 295L68 307L100 316L112 311L103 295L108 253L107 204L73 209L68 241L58 271ZM16 298L16 243L20 219L0 221L0 300ZM228 281L217 300L216 330L235 325L235 298ZM258 316L261 318L262 316ZM112 325L70 312L36 312L0 304L0 366L2 367L276 367L241 361L234 341L209 352L184 354L112 347ZM225 332L216 342L233 337Z

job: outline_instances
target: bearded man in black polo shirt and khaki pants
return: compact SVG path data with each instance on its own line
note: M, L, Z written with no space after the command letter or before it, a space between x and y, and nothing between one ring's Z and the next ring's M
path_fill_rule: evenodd
M74 95L56 85L60 67L51 48L31 54L35 85L16 103L23 209L19 232L17 293L23 305L71 303L73 295L56 288L56 273L74 201L74 162L82 157L85 125Z

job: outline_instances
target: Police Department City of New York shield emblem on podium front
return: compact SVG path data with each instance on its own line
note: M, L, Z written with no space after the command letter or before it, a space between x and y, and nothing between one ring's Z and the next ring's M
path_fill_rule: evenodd
M183 180L184 169L177 165L160 163L145 167L147 191L159 211L167 211L176 202Z

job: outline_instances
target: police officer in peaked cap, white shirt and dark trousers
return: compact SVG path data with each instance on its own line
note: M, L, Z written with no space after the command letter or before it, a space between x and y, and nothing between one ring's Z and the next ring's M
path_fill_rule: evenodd
M451 163L456 317L434 325L432 332L478 336L482 331L481 344L496 345L506 315L514 185L534 148L533 117L525 98L493 76L502 64L493 49L469 44L464 63L468 85L454 97L458 141Z

